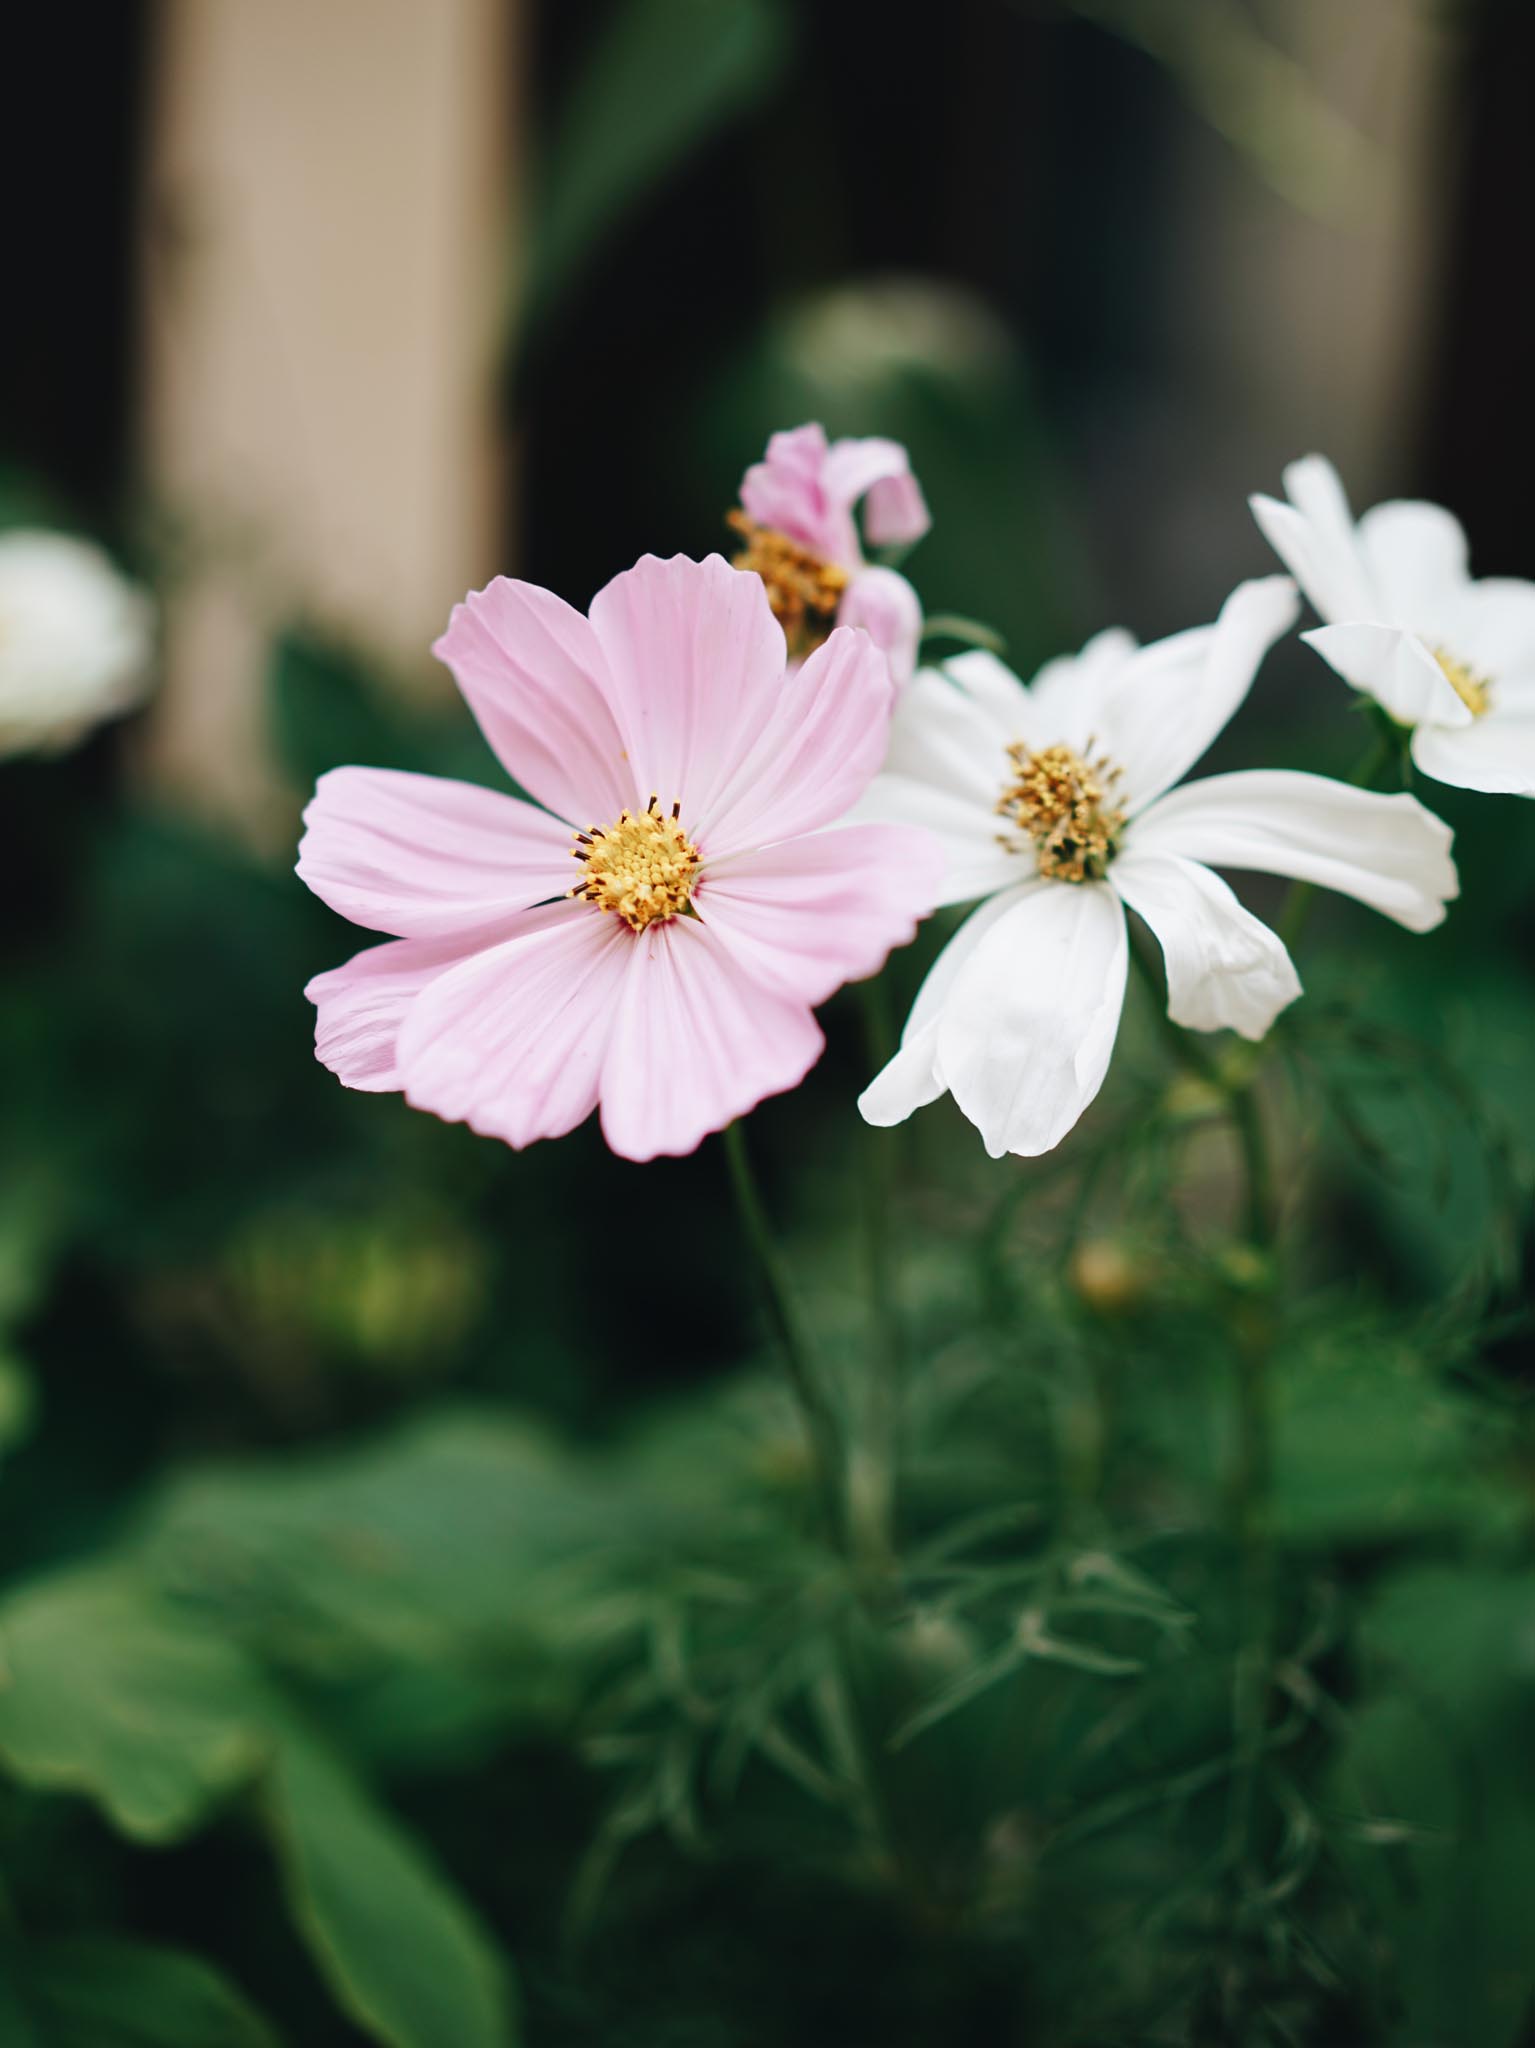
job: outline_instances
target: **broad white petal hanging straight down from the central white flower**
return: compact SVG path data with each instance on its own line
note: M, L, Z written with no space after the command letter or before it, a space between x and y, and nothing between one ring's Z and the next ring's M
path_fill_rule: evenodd
M1050 1151L1103 1085L1124 1008L1124 907L1105 883L1025 891L944 1004L937 1073L993 1159Z

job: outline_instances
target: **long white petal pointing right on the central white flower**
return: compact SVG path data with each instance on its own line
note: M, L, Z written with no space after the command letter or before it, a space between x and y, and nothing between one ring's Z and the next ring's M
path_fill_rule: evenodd
M1357 897L1410 932L1429 932L1459 895L1451 840L1449 825L1416 797L1248 768L1160 797L1130 827L1126 852L1289 874Z

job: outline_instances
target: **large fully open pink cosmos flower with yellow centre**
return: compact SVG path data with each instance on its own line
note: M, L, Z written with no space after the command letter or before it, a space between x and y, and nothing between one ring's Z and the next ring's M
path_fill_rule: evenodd
M497 578L434 653L534 803L321 776L299 874L395 942L309 983L319 1059L516 1147L600 1106L626 1159L794 1087L813 1006L905 944L941 879L923 831L827 829L884 756L880 649L835 631L786 674L755 575L647 555L589 618Z

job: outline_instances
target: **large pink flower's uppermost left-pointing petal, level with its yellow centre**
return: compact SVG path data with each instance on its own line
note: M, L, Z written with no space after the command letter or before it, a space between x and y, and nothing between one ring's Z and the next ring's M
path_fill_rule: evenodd
M352 924L399 938L475 932L575 881L567 825L473 782L332 768L303 817L301 881Z

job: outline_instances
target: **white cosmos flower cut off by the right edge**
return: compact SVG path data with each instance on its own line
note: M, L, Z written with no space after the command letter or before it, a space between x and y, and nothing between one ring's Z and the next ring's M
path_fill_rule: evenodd
M1443 506L1400 500L1355 524L1320 455L1285 469L1285 492L1253 498L1253 516L1326 621L1302 639L1412 727L1422 774L1535 797L1535 584L1474 582Z

